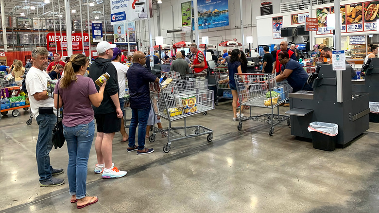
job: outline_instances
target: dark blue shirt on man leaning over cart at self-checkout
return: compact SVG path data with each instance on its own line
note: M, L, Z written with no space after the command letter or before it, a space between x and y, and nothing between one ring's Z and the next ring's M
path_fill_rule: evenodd
M292 73L286 79L288 84L293 88L293 92L303 89L308 79L308 74L299 62L290 59L287 64L282 66L282 71L292 70Z

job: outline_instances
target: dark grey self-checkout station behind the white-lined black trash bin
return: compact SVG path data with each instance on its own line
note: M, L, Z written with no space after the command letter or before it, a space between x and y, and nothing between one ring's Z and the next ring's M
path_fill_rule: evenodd
M369 95L352 91L352 69L340 71L341 79L332 65L319 65L313 80L312 91L290 93L291 135L311 139L308 126L311 122L338 124L337 145L345 147L369 129Z

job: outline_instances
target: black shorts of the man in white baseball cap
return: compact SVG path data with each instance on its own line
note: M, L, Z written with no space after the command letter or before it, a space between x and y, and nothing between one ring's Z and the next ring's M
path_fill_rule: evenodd
M116 111L107 113L107 114L95 113L95 119L96 119L97 132L103 132L103 133L120 132L121 118L117 117Z

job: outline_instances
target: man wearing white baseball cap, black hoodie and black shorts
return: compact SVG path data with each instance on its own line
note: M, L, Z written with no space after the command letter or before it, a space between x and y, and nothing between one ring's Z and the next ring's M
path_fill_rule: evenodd
M92 106L97 127L95 141L97 164L94 171L96 174L103 173L103 178L117 178L126 175L126 172L120 171L112 163L112 141L115 133L121 129L122 118L117 70L111 62L113 48L116 48L116 44L100 42L96 46L99 57L89 68L89 77L94 82L105 72L110 75L106 81L103 102L99 107ZM99 86L96 85L96 89L99 91Z

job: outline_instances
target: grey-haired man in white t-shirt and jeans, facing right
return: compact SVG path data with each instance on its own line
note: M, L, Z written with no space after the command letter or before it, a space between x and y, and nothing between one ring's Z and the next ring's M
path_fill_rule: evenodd
M47 81L51 80L49 74L44 71L47 67L48 51L44 47L37 47L32 51L32 59L33 67L26 75L25 84L32 113L39 126L35 151L39 185L59 186L64 184L65 180L52 176L63 173L63 169L53 169L49 156L52 150L52 129L56 122L56 109L54 110L54 99L46 93Z

